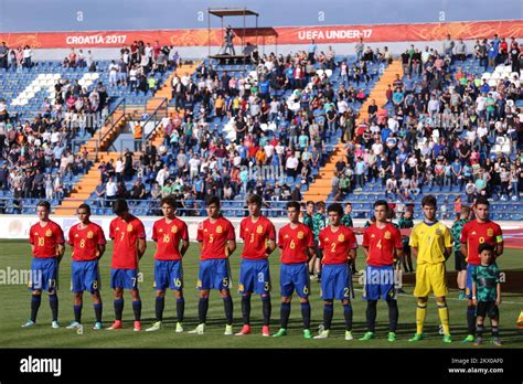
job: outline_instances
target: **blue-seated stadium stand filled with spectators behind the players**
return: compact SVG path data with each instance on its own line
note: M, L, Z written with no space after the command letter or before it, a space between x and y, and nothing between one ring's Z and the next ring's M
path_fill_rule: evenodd
M126 86L104 86L115 82L111 62L96 72L42 62L2 72L0 98L14 116L7 131L23 132L22 121L55 97L60 78L107 92L109 119L99 131L71 124L64 130L65 147L83 148L77 156L86 166L63 194L53 194L57 205L75 192L56 212L86 200L97 214L109 214L108 201L126 196L136 214L157 214L158 199L173 193L181 214L203 214L202 198L216 194L226 215L243 216L245 194L257 192L269 216L281 215L287 200L311 199L351 201L355 217L365 218L375 199L401 213L430 192L449 217L458 196L467 204L484 194L494 201L494 220L519 220L521 73L501 54L485 64L482 44L465 57L412 46L396 61L371 49L361 60L332 49L312 60L307 52L264 55L248 65L205 60L154 72L151 89L142 90L129 84L129 70ZM137 140L129 151L115 150L122 129L143 129L151 114L147 146ZM57 174L58 166L46 173ZM4 211L31 211L35 196L14 195L20 181L8 179Z

